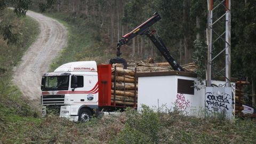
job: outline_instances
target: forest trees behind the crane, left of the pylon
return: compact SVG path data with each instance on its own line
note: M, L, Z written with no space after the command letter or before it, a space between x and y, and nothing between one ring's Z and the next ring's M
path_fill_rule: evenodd
M35 1L46 11L47 1ZM45 4L45 6L43 6ZM162 19L151 29L156 29L171 54L181 64L192 61L194 40L205 41L207 3L204 1L126 1L126 0L58 0L48 10L69 13L82 18L95 29L95 35L115 47L119 38L158 12ZM132 57L164 60L155 46L145 36L138 36L128 44ZM124 48L125 49L125 48ZM125 50L124 50L125 51Z

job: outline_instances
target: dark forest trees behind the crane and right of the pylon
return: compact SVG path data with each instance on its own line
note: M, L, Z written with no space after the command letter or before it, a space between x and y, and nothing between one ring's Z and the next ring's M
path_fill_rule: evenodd
M158 12L162 19L152 29L158 31L171 54L181 64L193 61L195 39L206 41L207 1L203 0L35 0L33 6L39 5L41 10L45 11L49 3L52 5L48 7L49 11L65 12L70 14L70 17L83 19L86 23L83 25L81 23L81 26L89 25L90 28L95 29L95 37L111 47L115 47L123 35L150 18L154 12ZM43 4L46 6L42 6ZM233 62L235 67L238 66L237 64L240 63L238 59L241 58L239 57L241 53L237 54L236 51L244 46L255 47L255 42L252 41L255 37L254 9L253 0L231 3L231 46L232 59L236 59L237 62ZM215 15L213 19L216 18L218 17ZM225 28L225 23L219 23L219 26ZM138 36L128 45L133 57L139 56L143 59L154 57L163 60L146 37ZM253 52L252 49L248 51L246 53Z

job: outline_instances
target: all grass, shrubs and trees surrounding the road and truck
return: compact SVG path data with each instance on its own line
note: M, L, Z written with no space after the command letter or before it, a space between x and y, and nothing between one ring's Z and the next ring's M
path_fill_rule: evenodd
M34 6L37 5L38 1L34 2ZM180 57L180 62L190 61L191 52L195 48L198 48L198 55L204 53L200 51L204 49L204 43L196 41L195 47L193 46L196 35L204 41L204 1L77 0L71 1L71 4L70 1L54 2L52 7L41 3L45 6L42 8L45 8L47 15L65 23L69 29L69 40L68 46L53 62L52 69L62 63L77 60L93 59L98 63L106 63L109 58L115 56L118 38L129 31L130 26L134 27L147 19L155 10L163 17L162 22L156 26L163 34L170 51ZM255 42L250 39L254 36L251 31L254 30L255 19L249 19L253 14L249 10L255 5L253 1L247 0L234 2L234 6L241 3L246 4L240 5L239 10L248 18L242 20L246 21L244 24L238 19L243 15L234 12L234 21L237 23L234 29L237 32L233 34L233 51L236 51L234 54L237 58L234 65L239 62L237 66L252 62L254 57L251 56L255 48ZM188 9L189 5L191 9ZM17 41L8 43L12 41L11 38L4 39L4 35L0 36L0 143L255 143L254 120L229 121L221 116L198 118L185 116L175 110L162 113L144 107L141 113L138 113L134 109L128 109L119 116L95 117L87 123L74 123L54 115L39 118L35 110L21 99L21 92L11 82L13 67L17 66L22 54L38 34L37 23L28 17L18 20L7 10L1 12L4 13L1 20L5 20L6 26L12 23L8 30L17 34ZM191 17L188 17L190 15ZM196 17L201 20L198 27L195 24ZM236 42L239 35L242 37ZM251 55L239 55L239 51L245 48L248 52L246 54ZM133 43L122 47L122 52L123 56L129 59L155 57L161 61L156 50L143 37L136 38ZM183 58L187 60L182 61ZM204 67L204 61L197 62ZM250 65L254 67L255 64ZM238 75L238 68L234 68L235 76ZM239 75L252 77L250 70L243 72Z

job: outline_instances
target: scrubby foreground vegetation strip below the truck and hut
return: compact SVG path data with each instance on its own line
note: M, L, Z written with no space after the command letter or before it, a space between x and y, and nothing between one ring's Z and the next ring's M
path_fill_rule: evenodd
M256 137L256 122L249 119L196 118L179 111L154 112L148 107L141 113L128 109L119 116L86 123L49 115L1 124L8 124L1 129L2 143L254 143Z

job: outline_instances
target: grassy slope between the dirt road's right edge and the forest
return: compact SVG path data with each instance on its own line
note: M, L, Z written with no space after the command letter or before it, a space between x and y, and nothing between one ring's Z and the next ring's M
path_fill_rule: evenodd
M49 12L46 15L59 20L68 28L68 46L53 61L51 71L71 61L95 60L97 63L108 63L110 58L115 57L116 49L106 47L101 40L102 35L99 31L95 31L92 22L85 21L83 18L70 17L65 13Z

